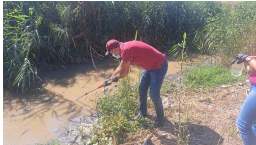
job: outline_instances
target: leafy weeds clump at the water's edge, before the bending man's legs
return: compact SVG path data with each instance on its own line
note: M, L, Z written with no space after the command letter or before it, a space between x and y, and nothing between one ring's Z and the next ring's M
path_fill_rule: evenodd
M141 127L152 127L148 118L132 121L137 113L138 83L134 85L131 82L129 76L121 79L118 92L115 95L106 96L99 100L96 107L101 114L101 125L94 126L92 143L106 144L112 142L116 144L125 142L131 139L127 138L127 135L135 135Z

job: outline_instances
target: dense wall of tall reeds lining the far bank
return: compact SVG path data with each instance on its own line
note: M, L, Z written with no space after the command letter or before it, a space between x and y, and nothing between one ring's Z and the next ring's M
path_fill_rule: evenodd
M4 2L4 86L26 91L37 71L103 57L110 39L137 39L180 59L201 50L229 65L255 49L256 3Z

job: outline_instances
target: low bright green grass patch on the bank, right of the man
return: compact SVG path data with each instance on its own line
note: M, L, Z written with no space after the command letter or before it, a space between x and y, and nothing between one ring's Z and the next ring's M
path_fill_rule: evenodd
M184 84L192 90L209 90L217 86L242 81L247 74L234 77L231 69L221 66L193 66L184 69Z

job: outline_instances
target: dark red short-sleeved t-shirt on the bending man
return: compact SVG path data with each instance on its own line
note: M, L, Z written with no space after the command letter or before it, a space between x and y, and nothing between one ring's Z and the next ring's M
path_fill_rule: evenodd
M145 70L160 68L165 59L164 54L140 41L121 43L120 49L123 63L131 61Z

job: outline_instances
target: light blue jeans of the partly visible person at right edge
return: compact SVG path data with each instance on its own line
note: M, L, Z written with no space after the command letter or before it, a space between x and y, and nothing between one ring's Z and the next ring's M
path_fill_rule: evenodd
M251 83L236 124L244 145L256 144L256 84Z

